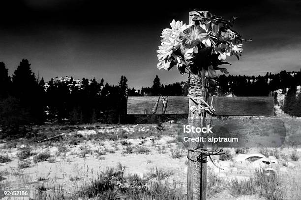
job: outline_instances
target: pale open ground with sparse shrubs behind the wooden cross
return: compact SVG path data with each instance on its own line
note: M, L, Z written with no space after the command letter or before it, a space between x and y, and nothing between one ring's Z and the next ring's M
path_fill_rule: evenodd
M301 200L295 141L301 120L232 117L220 123L235 120L247 125L235 127L245 134L264 134L276 127L271 120L280 120L285 142L281 148L225 148L225 155L214 156L224 170L208 162L208 199ZM28 137L0 143L0 188L29 189L32 200L184 199L186 153L176 124L36 126Z

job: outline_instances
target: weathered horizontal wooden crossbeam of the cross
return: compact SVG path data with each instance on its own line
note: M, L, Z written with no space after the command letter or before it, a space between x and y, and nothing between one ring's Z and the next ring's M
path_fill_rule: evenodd
M158 97L128 97L127 114L148 115ZM211 102L211 97L209 98ZM213 97L215 115L273 116L273 97ZM160 100L157 115L162 114ZM188 115L188 97L168 97L166 115Z

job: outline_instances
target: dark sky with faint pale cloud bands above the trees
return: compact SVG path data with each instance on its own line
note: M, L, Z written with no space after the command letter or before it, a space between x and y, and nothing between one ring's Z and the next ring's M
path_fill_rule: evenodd
M1 2L0 61L12 74L22 58L29 59L45 80L72 75L117 84L125 75L135 88L151 86L155 75L163 84L186 80L176 69L159 71L156 50L163 28L173 19L188 24L189 11L199 9L238 17L234 29L253 39L240 61L229 59L231 74L301 69L301 1L203 1Z

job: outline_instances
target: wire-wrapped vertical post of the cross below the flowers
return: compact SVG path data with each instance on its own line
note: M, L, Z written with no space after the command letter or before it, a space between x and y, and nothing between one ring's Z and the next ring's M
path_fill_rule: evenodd
M195 127L212 127L212 115L214 115L214 107L212 101L209 102L209 79L206 77L205 69L199 69L198 74L189 73L188 76L188 98L189 98L189 116L188 123ZM198 133L190 133L190 137L198 137ZM208 135L202 134L207 138ZM202 188L206 188L207 176L207 157L211 159L211 155L223 154L223 150L214 150L212 143L212 151L207 149L206 143L189 142L188 150L188 175L187 175L187 191L189 197L187 199L203 200L206 194L200 192ZM212 159L211 159L212 161ZM213 161L212 161L213 163ZM213 163L213 165L215 165ZM216 165L215 165L216 166ZM216 166L219 168L218 166ZM221 169L221 168L219 168ZM190 173L189 173L190 172ZM190 196L191 195L191 196Z

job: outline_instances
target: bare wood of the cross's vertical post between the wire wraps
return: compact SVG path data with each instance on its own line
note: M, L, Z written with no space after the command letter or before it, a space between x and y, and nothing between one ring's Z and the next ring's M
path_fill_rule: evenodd
M208 12L208 11L203 11ZM195 11L189 12L189 24L194 25L192 21L192 17L190 15L195 14ZM189 86L190 87L190 86ZM190 89L190 88L189 88ZM200 89L201 85L200 85ZM192 96L197 96L196 94L191 94ZM207 94L204 95L204 100L206 100ZM189 121L189 125L193 125L194 127L204 127L206 126L206 119L203 111L203 115L199 115L198 112L192 112L190 110L191 106L195 105L195 103L189 99L189 112L188 119L193 119ZM201 119L203 118L203 119ZM190 133L190 137L198 137L198 133ZM191 149L197 148L206 148L205 144L201 142L190 142L189 147ZM206 185L207 185L207 163L203 162L194 162L198 160L198 153L194 153L188 151L188 172L187 172L187 200L206 200ZM192 161L194 160L194 161Z

